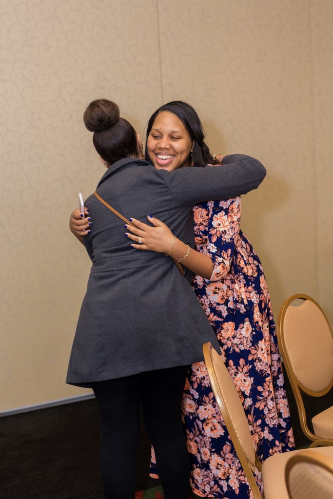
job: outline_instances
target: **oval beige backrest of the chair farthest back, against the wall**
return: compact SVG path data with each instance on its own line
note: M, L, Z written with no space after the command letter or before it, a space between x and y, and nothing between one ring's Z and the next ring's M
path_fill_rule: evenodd
M295 306L296 300L302 303ZM328 393L333 386L333 336L319 304L306 294L289 297L281 307L277 332L288 375L309 395Z

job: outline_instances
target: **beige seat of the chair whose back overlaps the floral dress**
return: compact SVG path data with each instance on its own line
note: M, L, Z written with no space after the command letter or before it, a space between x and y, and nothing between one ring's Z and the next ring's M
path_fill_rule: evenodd
M285 469L287 461L298 452L300 451L274 454L274 456L266 459L262 470L265 499L289 498L285 480ZM316 452L320 452L333 459L333 447L317 447Z

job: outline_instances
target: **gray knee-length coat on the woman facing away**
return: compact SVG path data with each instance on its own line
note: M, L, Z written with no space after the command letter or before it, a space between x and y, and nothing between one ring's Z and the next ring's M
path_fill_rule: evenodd
M126 158L101 178L98 194L127 218L165 222L193 247L192 207L256 189L264 166L244 155L226 156L222 166L155 170ZM164 253L138 251L124 223L93 195L85 201L93 219L84 238L92 260L78 318L66 382L89 387L132 374L203 360L202 344L215 333L190 282Z

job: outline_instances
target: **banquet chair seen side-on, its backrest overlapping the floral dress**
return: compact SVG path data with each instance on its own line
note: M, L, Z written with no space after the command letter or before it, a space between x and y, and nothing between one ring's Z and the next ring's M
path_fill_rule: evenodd
M203 352L215 399L254 499L289 499L285 468L288 460L300 451L274 454L260 463L241 399L222 357L209 342L204 343ZM333 447L320 447L316 452L333 459ZM256 469L262 473L263 493L256 482Z

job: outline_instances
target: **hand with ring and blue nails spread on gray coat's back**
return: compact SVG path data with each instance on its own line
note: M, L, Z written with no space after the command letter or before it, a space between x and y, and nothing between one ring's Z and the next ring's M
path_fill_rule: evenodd
M154 227L133 218L131 219L131 225L127 224L125 226L125 229L131 231L126 232L125 236L133 241L132 248L169 254L173 241L172 232L159 219L149 216L147 218ZM141 244L139 243L140 241Z

